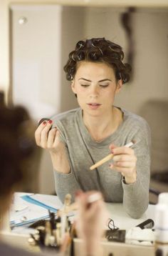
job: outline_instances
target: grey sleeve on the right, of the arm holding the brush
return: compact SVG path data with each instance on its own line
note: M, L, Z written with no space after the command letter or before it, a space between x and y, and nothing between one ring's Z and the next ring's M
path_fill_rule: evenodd
M150 130L144 122L133 147L137 157L137 180L133 184L125 184L122 179L125 211L136 219L142 216L149 204L150 141Z

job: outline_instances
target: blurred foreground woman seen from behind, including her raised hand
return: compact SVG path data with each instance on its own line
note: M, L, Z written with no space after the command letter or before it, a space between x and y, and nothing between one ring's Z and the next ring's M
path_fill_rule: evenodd
M32 123L23 107L9 109L4 106L0 93L0 231L1 221L9 211L16 187L23 182L28 172L26 161L34 150ZM2 136L3 135L3 136ZM78 235L84 241L83 256L102 255L100 240L104 233L107 211L103 200L93 202L88 207L90 194L78 192L79 215L76 222ZM95 214L97 215L95 218ZM91 232L90 232L91 231ZM96 235L95 235L96 234ZM2 236L2 235L1 235ZM0 255L31 256L31 253L11 247L2 242L0 236ZM67 241L65 241L67 242ZM37 255L37 254L36 254ZM45 252L45 255L46 252ZM51 254L48 254L51 255ZM53 254L52 254L53 255ZM54 255L56 255L54 253ZM60 255L60 254L59 254ZM63 256L63 254L61 254Z

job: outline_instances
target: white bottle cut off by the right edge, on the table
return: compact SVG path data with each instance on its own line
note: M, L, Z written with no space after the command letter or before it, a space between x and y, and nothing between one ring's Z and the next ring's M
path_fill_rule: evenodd
M155 216L155 256L168 255L168 193L159 194Z

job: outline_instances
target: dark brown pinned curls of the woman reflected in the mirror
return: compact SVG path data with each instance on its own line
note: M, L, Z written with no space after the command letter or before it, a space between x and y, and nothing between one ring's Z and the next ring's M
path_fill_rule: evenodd
M78 61L104 62L115 69L116 79L122 79L123 84L130 80L130 64L123 63L122 47L103 38L93 38L78 41L75 50L69 54L69 59L63 68L68 81L72 81L77 70Z

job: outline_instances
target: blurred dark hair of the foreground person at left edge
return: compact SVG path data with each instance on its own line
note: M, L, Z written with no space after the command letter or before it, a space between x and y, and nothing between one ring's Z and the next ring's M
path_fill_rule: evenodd
M26 132L30 121L23 107L6 107L0 93L0 196L8 195L25 177L24 162L35 142Z

